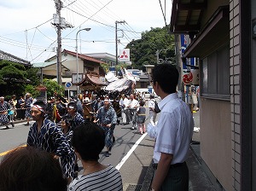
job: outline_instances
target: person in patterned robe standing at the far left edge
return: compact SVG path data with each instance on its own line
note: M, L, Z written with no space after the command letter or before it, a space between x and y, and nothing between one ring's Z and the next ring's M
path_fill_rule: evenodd
M4 97L0 96L0 122L5 125L5 129L9 129L9 117L8 117L8 110L11 109L9 102L4 101ZM14 127L15 124L11 123Z

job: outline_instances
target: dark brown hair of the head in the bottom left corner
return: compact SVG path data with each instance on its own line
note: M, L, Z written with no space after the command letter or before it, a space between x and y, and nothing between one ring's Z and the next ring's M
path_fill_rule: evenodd
M17 148L0 164L1 191L64 191L67 179L52 154L38 148Z

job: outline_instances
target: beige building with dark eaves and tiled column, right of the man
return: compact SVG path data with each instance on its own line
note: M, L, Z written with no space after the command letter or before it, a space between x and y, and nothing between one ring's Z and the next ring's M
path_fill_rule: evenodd
M170 31L187 34L183 57L200 61L201 158L218 190L256 189L255 9L250 0L172 2Z

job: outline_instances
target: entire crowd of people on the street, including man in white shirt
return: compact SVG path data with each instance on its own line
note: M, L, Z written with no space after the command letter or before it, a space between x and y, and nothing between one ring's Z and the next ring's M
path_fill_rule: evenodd
M189 190L185 161L194 119L189 106L177 96L178 75L177 68L170 64L158 65L152 71L152 85L161 101L158 105L154 96L148 101L147 132L155 141L155 171L150 190ZM108 96L103 99L77 96L76 101L67 103L61 97L52 97L47 104L26 94L23 104L26 125L30 125L30 118L35 122L30 126L26 148L17 148L3 158L0 190L67 190L67 187L69 190L122 190L119 171L99 162L102 149L107 148L105 156L109 157L115 142L116 102L121 109L122 124L132 124L131 129L139 128L141 134L146 132L145 100L133 94L121 95L115 101ZM13 120L9 118L9 110L14 107L0 97L0 121L7 128L9 120L10 123ZM79 176L78 159L84 168ZM56 182L49 181L52 178ZM48 185L52 187L47 188Z

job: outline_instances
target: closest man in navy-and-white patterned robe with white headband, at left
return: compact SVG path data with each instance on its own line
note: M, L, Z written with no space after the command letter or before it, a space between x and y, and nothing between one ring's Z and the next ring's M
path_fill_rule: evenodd
M30 127L26 144L51 153L55 159L61 158L62 171L71 181L74 168L73 148L62 130L49 119L45 119L45 107L44 101L33 103L31 113L36 122Z

